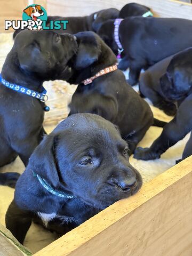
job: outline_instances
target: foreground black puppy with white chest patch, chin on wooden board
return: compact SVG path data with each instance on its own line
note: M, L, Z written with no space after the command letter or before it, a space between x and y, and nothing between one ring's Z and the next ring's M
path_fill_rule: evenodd
M51 194L33 171L74 198ZM98 115L72 115L31 155L6 213L6 227L22 243L32 218L38 216L48 229L65 234L135 194L141 185L141 175L129 163L127 143L115 125Z

